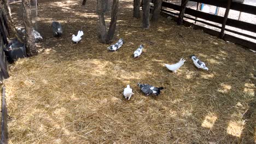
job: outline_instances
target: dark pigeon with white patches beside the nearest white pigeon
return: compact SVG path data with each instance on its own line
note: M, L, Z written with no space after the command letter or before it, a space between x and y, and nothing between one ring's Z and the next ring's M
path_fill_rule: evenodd
M150 94L155 94L156 96L158 96L161 90L164 89L163 87L154 87L149 84L137 83L137 85L141 88L141 91L147 96Z

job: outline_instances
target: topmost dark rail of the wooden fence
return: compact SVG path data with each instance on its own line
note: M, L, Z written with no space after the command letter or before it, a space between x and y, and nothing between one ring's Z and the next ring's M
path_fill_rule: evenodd
M222 8L226 8L228 5L227 0L225 0L225 1L222 1L222 0L190 0L190 1L204 3L204 4L210 4L210 5L214 5L214 6L222 7ZM256 7L253 5L232 2L230 9L256 15Z

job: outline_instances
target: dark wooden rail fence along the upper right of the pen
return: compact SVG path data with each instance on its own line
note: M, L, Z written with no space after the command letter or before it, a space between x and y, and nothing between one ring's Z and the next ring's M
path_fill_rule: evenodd
M186 5L186 1L187 0L183 0L181 5ZM232 29L225 28L225 26L227 25L227 26L240 28L240 29L243 29L243 30L246 30L246 31L249 31L249 32L256 33L256 25L255 24L228 18L229 9L241 11L243 13L256 15L256 7L255 6L242 4L242 3L231 2L231 0L225 0L225 1L224 0L190 0L190 1L197 2L197 3L210 4L210 5L214 5L214 6L217 6L217 7L226 8L226 13L225 13L224 17L222 17L222 16L208 14L208 13L204 13L202 11L182 7L182 6L172 4L172 3L168 3L168 2L162 2L161 11L162 11L162 13L167 14L167 15L170 15L170 14L179 15L179 19L176 19L177 21L183 21L183 16L184 16L184 13L185 13L185 14L188 14L188 15L191 15L191 16L194 16L194 17L198 17L200 19L220 23L220 24L222 24L222 27L214 25L213 23L203 21L203 20L197 20L197 19L195 19L193 17L190 17L190 16L184 16L187 19L194 20L194 21L197 21L197 22L201 22L201 23L204 23L204 24L212 26L212 27L220 28L220 29L222 29L222 31L221 32L214 31L213 29L209 29L209 28L202 27L202 26L196 25L196 24L188 22L188 21L184 21L186 25L193 26L195 29L203 29L203 31L205 31L206 33L210 33L210 34L212 34L216 37L220 37L220 38L222 38L226 41L230 41L231 43L239 44L239 45L248 47L249 49L256 50L256 44L255 43L253 43L251 41L248 41L248 40L245 40L245 39L234 37L230 34L224 34L224 31L227 31L227 32L235 33L235 34L242 35L242 36L245 36L245 37L252 38L252 39L256 40L256 35L248 35L246 33L240 33L240 32L234 31ZM173 10L177 10L177 11L179 11L179 13L175 13L175 12L167 10L165 8L170 8L170 9L173 9ZM183 10L184 10L184 13L182 14L181 11L183 11Z

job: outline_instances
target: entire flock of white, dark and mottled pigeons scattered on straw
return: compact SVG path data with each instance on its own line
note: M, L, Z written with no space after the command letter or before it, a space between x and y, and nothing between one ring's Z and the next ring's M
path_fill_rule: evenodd
M61 24L59 22L53 21L53 23L51 23L51 26L53 28L53 34L55 37L60 37L62 35L62 27ZM21 30L20 28L18 28L18 31L22 32L23 34L25 34L25 29ZM35 39L43 39L42 36L40 35L40 33L38 33L36 30L33 29L33 35ZM78 31L77 35L72 35L72 41L74 43L78 43L81 39L82 36L84 35L83 31ZM110 45L107 49L108 51L117 51L118 49L120 49L120 47L124 44L124 39L119 39L117 43L115 43L114 45ZM143 45L139 45L138 49L135 50L135 52L133 52L134 58L138 58L139 56L141 56L142 54L142 50L143 50ZM190 56L190 58L192 59L193 63L195 64L195 66L198 69L204 69L204 70L208 70L208 68L206 67L205 63L203 63L202 61L200 61L200 59L198 59L195 55ZM182 67L182 65L184 64L186 60L184 58L181 58L179 60L178 63L175 64L165 64L165 67L168 70L171 70L173 73L176 73L177 70L179 68ZM146 96L148 95L156 95L158 96L161 93L161 90L164 89L164 87L154 87L152 85L149 84L142 84L142 83L137 83L137 86L141 89L141 92L143 94L145 94ZM130 98L132 97L132 95L134 95L134 93L132 92L132 88L130 87L130 85L127 85L126 88L124 88L124 92L123 95L125 97L126 100L130 100Z

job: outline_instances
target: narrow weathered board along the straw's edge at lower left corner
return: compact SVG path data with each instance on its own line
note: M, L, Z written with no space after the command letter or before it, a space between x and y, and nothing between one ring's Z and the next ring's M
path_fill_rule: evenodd
M2 123L1 123L1 143L8 144L8 110L5 99L5 87L2 88Z

